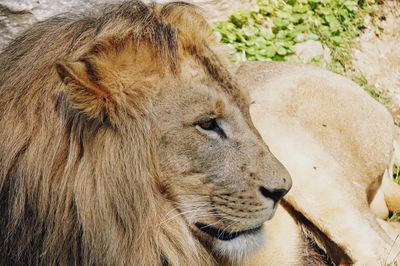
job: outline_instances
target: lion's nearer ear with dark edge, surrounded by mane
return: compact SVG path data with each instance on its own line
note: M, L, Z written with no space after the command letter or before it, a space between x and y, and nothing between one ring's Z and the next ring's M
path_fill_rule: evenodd
M55 68L67 87L66 95L72 108L101 121L109 116L110 92L102 86L96 68L88 59L58 61Z

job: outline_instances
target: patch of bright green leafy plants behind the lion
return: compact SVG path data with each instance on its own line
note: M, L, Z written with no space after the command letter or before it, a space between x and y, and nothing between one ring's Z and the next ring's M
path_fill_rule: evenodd
M294 45L317 40L331 50L331 70L351 68L351 46L366 14L378 13L374 0L264 0L255 10L233 14L215 25L234 50L234 61L298 61ZM323 64L322 58L314 58Z

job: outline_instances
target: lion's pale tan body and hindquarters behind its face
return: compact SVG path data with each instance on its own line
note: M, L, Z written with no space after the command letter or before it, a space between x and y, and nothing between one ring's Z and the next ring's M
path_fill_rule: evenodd
M344 255L347 263L359 265L391 262L399 250L393 243L395 226L385 232L369 208L392 156L389 113L354 83L311 66L246 63L237 78L250 87L256 127L293 178L287 203L345 252L332 254L320 243L328 255L336 263L346 262ZM298 239L300 217L293 216L299 224L286 229L297 233L277 226L288 219L281 215L266 224L267 232L285 240L265 247L265 252L277 250L270 255L275 264L265 254L261 264L288 265L296 259L302 264L304 243L289 249L297 253L286 253L284 244ZM260 257L255 259L260 265Z

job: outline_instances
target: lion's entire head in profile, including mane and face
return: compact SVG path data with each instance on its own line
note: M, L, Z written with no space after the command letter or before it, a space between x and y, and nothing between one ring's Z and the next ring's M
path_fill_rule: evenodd
M0 55L1 256L238 261L291 180L184 3L52 18Z

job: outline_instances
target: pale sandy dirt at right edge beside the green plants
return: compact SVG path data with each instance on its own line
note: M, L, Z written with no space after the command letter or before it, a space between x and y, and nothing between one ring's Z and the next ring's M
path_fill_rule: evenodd
M383 3L380 30L369 26L358 38L353 50L353 65L369 84L384 97L397 125L400 125L400 1Z

